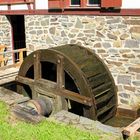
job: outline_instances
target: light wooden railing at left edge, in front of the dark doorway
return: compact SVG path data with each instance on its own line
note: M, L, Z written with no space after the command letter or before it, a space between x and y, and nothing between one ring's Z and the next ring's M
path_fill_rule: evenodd
M20 66L23 62L24 55L27 52L26 48L12 51L0 51L0 67L5 66ZM13 60L14 58L14 60Z

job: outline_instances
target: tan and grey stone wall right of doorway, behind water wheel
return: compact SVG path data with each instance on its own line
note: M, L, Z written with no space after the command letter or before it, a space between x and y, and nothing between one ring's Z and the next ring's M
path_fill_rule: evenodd
M32 51L69 43L91 48L111 71L119 104L139 104L140 17L36 15L25 16L25 26Z

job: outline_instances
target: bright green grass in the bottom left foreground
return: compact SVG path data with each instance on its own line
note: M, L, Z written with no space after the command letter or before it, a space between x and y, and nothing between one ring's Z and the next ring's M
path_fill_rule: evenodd
M0 102L0 140L99 140L97 135L47 120L33 125L12 123L8 106Z

